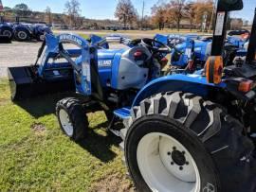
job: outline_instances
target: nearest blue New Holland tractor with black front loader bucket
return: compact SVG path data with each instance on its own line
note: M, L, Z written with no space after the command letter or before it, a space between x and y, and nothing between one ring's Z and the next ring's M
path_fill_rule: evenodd
M238 9L242 0L218 2L210 57L192 74L161 77L170 47L154 39L106 38L128 45L107 49L77 35L46 35L39 64L9 68L12 99L76 92L56 106L62 131L76 142L88 135L86 113L104 111L137 191L254 192L256 17L247 59L226 67L222 59L229 11Z

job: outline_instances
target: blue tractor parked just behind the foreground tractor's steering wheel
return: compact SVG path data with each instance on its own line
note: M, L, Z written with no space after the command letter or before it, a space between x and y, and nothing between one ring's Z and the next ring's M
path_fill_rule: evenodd
M172 47L170 73L192 73L203 68L210 56L210 37L198 35L161 35L156 34L154 39Z

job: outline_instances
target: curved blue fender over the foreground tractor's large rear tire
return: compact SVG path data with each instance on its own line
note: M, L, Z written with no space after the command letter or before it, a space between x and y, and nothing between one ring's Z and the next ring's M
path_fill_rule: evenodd
M143 89L141 89L136 98L134 99L133 105L139 105L139 102L150 96L154 96L159 93L166 93L170 91L180 91L192 93L197 96L207 96L209 88L225 88L226 83L220 83L218 85L207 82L205 77L202 75L192 74L176 74L172 76L166 76L159 79L155 79L149 82Z

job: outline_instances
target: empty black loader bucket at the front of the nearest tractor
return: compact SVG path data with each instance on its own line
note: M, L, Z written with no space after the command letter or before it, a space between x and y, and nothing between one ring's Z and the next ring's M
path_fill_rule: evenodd
M72 70L68 76L55 79L41 79L34 66L9 67L9 86L11 99L21 100L36 96L75 91Z

